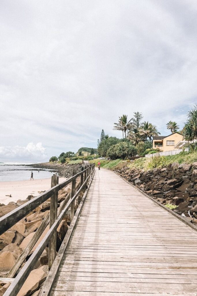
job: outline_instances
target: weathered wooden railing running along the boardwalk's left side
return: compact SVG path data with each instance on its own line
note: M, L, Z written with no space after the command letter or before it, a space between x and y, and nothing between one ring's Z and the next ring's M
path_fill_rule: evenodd
M51 189L38 195L37 197L33 198L29 202L26 202L25 204L21 205L17 209L14 209L10 213L0 218L0 235L1 235L5 231L10 229L18 221L20 221L22 218L24 218L27 214L32 212L32 210L35 210L36 207L38 207L43 202L51 198L50 214L48 213L45 216L42 223L40 224L37 231L35 232L34 236L30 240L30 242L27 244L22 254L19 256L16 263L14 264L14 266L6 276L5 281L6 280L12 281L12 284L6 290L6 292L4 293L4 296L17 295L20 288L22 287L25 280L27 279L28 275L30 274L30 271L33 269L35 263L40 258L40 255L42 254L42 252L44 251L45 247L48 244L49 244L48 266L52 270L52 267L54 265L53 262L56 259L56 234L57 234L56 230L59 224L61 223L61 221L63 220L66 212L69 210L69 208L70 208L70 226L71 226L72 220L74 221L74 215L76 215L74 213L75 200L77 197L79 197L79 195L82 198L86 194L87 185L92 180L94 173L95 173L95 164L87 164L87 166L85 166L84 168L82 167L82 171L80 173L76 174L76 170L73 170L73 176L68 180L62 182L61 184L58 184L58 176L53 175L51 178L51 187L52 187ZM80 177L80 185L78 186L78 188L76 188L76 178L78 177ZM65 186L69 185L70 183L72 183L71 192L68 194L64 202L62 202L62 204L58 208L58 191L64 188ZM38 241L38 239L40 238L41 234L43 233L44 229L48 224L50 224L49 231L46 233L45 237L43 237L42 241L40 242L38 247L35 249L35 251L32 253L30 258L27 260L23 268L19 271L16 278L14 278L17 271L21 267L22 263L27 258L28 254L31 252L32 248L35 246L36 242ZM70 230L69 238L74 229L74 225L71 228L69 227L69 230ZM69 242L69 239L67 239L67 244L68 242ZM62 251L62 248L61 248L61 251ZM50 276L50 277L52 278L53 276ZM54 278L55 278L55 275L54 275ZM43 291L43 295L48 295L48 294L45 293L45 291Z

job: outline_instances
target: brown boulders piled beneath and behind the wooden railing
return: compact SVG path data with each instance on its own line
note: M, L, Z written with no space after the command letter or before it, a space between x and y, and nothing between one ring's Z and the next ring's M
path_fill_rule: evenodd
M76 188L79 187L80 180L76 179ZM65 198L71 191L71 184L61 189L58 192L58 207L61 203L64 202ZM34 198L34 196L29 195L26 200L18 200L15 202L10 202L8 205L0 204L0 217L19 207L20 205L28 202ZM80 197L75 200L75 211L79 205ZM35 235L35 231L38 229L40 224L42 223L45 216L50 212L50 199L43 202L40 206L38 206L35 210L29 213L25 218L17 222L11 229L7 230L4 234L0 236L0 277L6 277L8 272L11 270L14 263L19 258L22 251L27 246L30 239ZM64 219L61 221L60 225L57 228L57 251L59 250L61 243L66 235L70 224L70 210L66 213ZM43 231L42 235L38 239L38 242L35 244L27 259L34 252L38 244L41 242L47 231L49 230L49 226ZM34 266L34 269L31 271L21 290L17 294L17 296L30 296L38 295L38 290L40 289L40 285L45 280L48 274L48 247L45 248L39 260ZM24 263L23 263L24 265ZM22 265L22 267L23 267ZM21 268L22 268L21 267ZM20 269L19 269L20 271ZM19 272L18 271L18 272ZM9 287L11 283L7 281L0 282L0 296L4 294L6 289ZM36 291L36 292L35 292Z

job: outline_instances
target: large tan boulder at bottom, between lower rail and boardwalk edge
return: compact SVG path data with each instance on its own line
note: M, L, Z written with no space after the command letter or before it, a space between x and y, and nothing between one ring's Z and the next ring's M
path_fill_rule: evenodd
M30 272L22 288L17 296L30 296L33 292L38 290L40 285L45 281L49 268L47 265L34 269Z

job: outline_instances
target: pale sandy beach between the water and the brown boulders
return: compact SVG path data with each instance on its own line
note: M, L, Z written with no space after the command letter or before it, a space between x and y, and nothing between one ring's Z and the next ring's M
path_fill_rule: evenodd
M66 178L59 178L59 183ZM51 188L51 178L25 180L25 181L1 181L0 182L0 203L7 205L9 202L25 200L28 195L37 196L39 191ZM12 197L6 195L12 195Z

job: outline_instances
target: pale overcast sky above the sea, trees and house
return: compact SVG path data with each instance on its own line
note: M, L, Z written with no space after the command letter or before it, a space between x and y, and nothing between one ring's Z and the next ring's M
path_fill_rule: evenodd
M118 116L167 135L197 96L196 0L1 0L0 161L97 147Z

